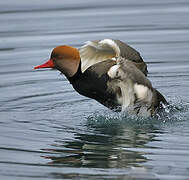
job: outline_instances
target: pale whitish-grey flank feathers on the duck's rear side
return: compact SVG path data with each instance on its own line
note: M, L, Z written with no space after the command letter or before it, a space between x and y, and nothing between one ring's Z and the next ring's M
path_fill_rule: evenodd
M143 84L135 83L130 74L123 71L122 64L112 66L108 76L113 80L114 86L120 88L117 93L117 102L122 107L122 112L127 111L143 117L151 116L153 91Z

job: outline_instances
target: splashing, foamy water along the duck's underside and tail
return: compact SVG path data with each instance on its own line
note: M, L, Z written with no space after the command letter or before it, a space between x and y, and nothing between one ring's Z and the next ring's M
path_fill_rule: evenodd
M169 100L161 112L154 117L138 117L127 112L113 112L111 110L97 111L87 117L87 126L90 127L117 127L117 126L161 126L185 121L189 114L189 103L178 98Z

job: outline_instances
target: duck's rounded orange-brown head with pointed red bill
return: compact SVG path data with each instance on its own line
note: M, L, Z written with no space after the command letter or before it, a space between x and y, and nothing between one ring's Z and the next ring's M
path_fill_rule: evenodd
M67 77L72 77L78 70L80 64L79 51L71 46L57 46L53 49L50 59L34 69L55 68Z

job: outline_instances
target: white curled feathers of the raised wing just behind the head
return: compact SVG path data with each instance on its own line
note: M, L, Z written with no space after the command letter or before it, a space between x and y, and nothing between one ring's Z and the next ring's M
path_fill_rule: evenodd
M87 68L113 57L120 55L119 46L111 39L101 41L87 41L79 49L81 57L81 70L84 72Z

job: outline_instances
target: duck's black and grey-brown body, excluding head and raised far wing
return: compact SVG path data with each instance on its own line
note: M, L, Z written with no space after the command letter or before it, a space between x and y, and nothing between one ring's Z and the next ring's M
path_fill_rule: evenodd
M140 116L153 115L161 107L161 102L166 103L165 98L135 65L127 60L124 65L128 65L128 68L132 66L134 71L126 72L122 77L111 76L109 72L117 63L110 59L94 64L84 73L79 68L68 80L79 94L95 99L110 109L128 110ZM121 68L126 70L124 66Z

